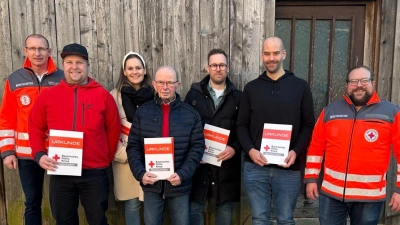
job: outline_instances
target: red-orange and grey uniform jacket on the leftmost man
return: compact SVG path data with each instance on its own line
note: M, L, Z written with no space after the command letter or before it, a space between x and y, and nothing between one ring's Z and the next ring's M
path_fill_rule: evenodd
M51 57L47 73L41 82L26 58L21 69L8 76L0 106L0 151L1 157L17 155L32 159L28 135L28 116L38 95L47 87L57 85L64 78L62 70L56 68Z

